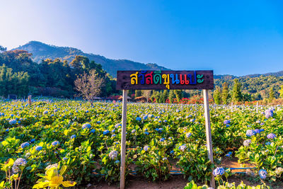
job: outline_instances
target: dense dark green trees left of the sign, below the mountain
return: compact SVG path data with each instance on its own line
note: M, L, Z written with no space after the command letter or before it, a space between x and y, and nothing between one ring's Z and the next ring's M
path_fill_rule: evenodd
M0 96L8 94L18 97L57 96L73 97L74 81L82 74L96 70L96 74L104 79L101 96L117 93L116 81L100 64L90 61L87 57L76 56L71 62L60 59L42 59L40 64L33 62L31 54L25 50L6 51L0 45Z

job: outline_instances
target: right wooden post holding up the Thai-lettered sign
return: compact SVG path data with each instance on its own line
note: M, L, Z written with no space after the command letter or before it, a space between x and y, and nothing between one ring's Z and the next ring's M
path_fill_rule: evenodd
M214 164L213 162L213 151L212 151L212 129L210 127L210 114L209 114L209 97L208 97L208 90L204 89L204 117L205 117L205 131L207 135L207 152L208 152L208 158ZM212 174L212 181L210 181L210 186L212 188L215 188L215 181L214 176Z

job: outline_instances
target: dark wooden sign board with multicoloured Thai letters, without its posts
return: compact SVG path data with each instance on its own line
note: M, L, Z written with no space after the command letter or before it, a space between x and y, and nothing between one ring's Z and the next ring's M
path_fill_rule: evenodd
M117 90L213 89L213 71L117 71Z

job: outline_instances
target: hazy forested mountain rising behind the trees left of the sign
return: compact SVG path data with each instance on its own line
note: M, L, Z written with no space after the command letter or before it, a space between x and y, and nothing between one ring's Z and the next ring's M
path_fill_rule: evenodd
M72 47L57 47L54 45L47 45L43 42L30 41L25 45L15 48L15 50L27 50L33 54L33 61L39 63L42 59L62 59L71 62L76 55L88 57L90 60L101 64L103 69L112 76L116 77L117 70L151 70L161 69L168 70L166 67L161 67L158 64L148 63L143 64L127 59L108 59L100 55L92 53L84 53L81 50Z

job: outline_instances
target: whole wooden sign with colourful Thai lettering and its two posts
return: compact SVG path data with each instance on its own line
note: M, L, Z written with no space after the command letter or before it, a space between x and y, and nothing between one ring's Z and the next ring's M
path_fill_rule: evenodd
M213 71L117 71L117 90L123 91L120 188L125 188L127 90L138 89L203 89L207 155L213 164L212 130L210 127L208 89L213 89ZM215 188L214 176L210 186Z

